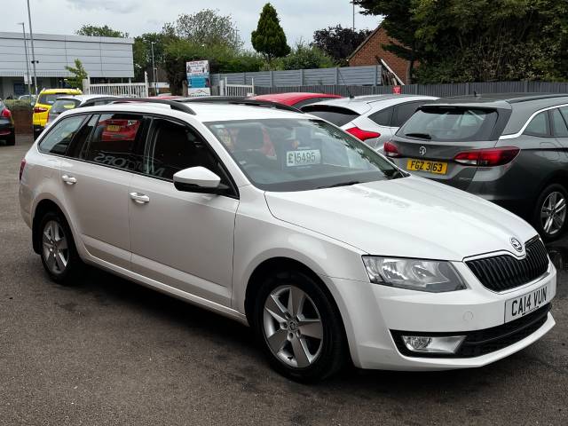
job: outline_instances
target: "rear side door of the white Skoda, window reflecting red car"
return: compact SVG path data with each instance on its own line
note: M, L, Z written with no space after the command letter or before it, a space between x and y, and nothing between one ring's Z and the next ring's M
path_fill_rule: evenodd
M128 195L133 157L148 120L140 114L95 114L61 163L66 206L87 251L130 269Z

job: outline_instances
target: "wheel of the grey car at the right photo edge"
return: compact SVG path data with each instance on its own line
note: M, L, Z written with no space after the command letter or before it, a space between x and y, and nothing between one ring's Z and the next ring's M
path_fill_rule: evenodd
M544 241L558 239L566 230L566 200L563 185L548 185L536 202L533 225Z

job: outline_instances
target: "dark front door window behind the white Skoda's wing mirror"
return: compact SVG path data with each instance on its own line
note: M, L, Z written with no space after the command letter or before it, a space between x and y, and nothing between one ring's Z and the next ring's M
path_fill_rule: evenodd
M154 119L150 134L143 173L172 180L180 170L201 166L225 180L217 158L195 130L170 120Z

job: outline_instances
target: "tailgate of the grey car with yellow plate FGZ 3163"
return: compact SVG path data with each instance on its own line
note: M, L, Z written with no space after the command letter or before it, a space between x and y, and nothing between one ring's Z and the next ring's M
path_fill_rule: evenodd
M423 107L398 130L394 162L415 175L466 189L477 167L454 162L457 154L491 148L498 112L459 106Z

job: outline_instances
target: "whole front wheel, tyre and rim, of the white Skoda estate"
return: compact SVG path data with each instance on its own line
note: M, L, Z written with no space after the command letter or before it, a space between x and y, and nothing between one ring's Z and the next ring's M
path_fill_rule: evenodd
M347 358L341 315L308 274L274 273L256 296L253 326L272 367L299 382L335 374Z

